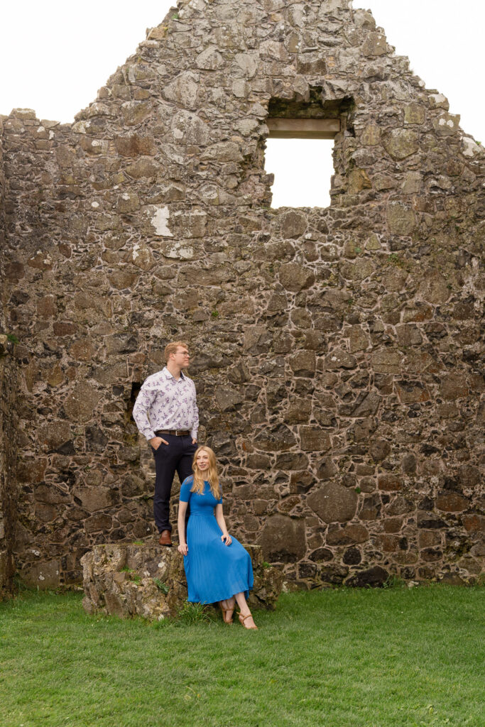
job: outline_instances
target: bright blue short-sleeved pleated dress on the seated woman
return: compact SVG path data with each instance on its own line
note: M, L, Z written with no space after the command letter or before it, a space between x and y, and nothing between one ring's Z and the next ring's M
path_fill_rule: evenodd
M191 503L187 524L188 555L183 558L188 601L215 603L241 591L247 598L253 585L251 558L236 538L231 536L231 545L225 545L220 539L223 531L217 525L214 508L222 505L223 498L214 497L207 481L204 494L191 492L192 486L191 476L180 488L180 502Z

